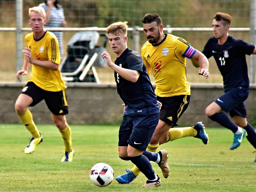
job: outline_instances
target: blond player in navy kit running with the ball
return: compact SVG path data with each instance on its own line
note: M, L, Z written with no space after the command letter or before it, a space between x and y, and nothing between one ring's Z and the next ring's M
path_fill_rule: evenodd
M159 120L161 103L150 83L143 59L135 51L127 48L127 22L116 22L108 26L108 41L116 53L112 63L107 51L101 54L107 65L115 73L117 93L124 101L124 116L118 134L119 157L132 161L147 177L142 187L158 187L161 180L149 161L158 163L162 171L168 171L167 152L146 151L148 143Z

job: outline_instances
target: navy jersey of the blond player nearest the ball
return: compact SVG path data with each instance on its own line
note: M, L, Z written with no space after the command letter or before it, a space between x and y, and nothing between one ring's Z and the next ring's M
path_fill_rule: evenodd
M156 94L148 77L142 57L130 49L124 50L115 64L119 67L137 70L139 79L132 83L115 72L117 93L126 105L124 115L151 115L159 113Z

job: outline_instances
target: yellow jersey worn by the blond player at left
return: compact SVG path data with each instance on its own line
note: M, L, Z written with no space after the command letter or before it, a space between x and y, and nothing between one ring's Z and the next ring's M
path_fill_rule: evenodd
M60 64L59 44L56 36L52 32L46 31L40 39L34 39L32 32L26 35L25 40L27 47L31 50L33 59L52 61L58 65ZM46 91L58 92L67 88L59 68L54 71L32 65L32 73L29 81L32 81Z

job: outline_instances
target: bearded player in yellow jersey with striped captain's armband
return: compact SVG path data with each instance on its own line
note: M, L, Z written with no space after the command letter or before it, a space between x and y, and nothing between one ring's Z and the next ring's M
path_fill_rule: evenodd
M207 144L209 138L202 122L193 127L173 128L178 125L178 119L189 104L190 84L186 77L186 58L196 60L200 65L198 74L209 78L207 58L183 38L164 34L159 15L147 13L141 21L148 39L141 48L141 56L148 74L151 71L153 73L157 100L162 103L160 119L147 150L156 152L159 145L188 136L199 138ZM131 171L126 171L127 173L116 177L119 183L128 184L140 173L136 166ZM162 173L167 178L169 167L162 169Z

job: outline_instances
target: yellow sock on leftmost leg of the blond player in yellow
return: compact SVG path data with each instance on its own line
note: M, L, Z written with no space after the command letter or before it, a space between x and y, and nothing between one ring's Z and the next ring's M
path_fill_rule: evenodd
M28 131L31 133L32 137L39 138L40 133L36 128L30 111L27 109L23 114L18 114L18 116L20 118L20 121L26 126Z

